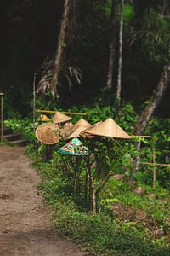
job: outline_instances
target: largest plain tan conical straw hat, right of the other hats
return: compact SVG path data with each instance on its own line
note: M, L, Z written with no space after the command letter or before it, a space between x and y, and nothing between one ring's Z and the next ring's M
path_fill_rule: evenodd
M117 137L123 139L132 138L127 134L126 131L123 131L122 128L117 125L116 122L111 118L106 119L101 124L88 129L86 132L102 137Z

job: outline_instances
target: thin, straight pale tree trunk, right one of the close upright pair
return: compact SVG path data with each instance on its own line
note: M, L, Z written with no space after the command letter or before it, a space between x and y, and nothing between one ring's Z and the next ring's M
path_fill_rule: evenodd
M116 102L120 102L120 100L121 100L121 90L122 90L123 5L124 5L124 0L121 0L121 19L120 19L120 31L119 31L119 61L118 61L118 74L117 74Z

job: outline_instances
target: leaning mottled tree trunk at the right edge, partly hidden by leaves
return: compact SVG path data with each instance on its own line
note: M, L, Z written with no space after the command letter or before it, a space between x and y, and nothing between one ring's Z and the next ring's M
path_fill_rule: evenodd
M165 90L167 89L168 84L170 84L170 63L167 64L164 72L161 74L161 79L157 84L156 90L154 91L153 95L150 98L150 102L144 108L143 112L139 116L139 120L134 126L133 134L141 135L141 133L144 131L144 128L150 121L150 118L153 115L154 111L156 110L157 106L159 105L159 102L161 102L161 98ZM137 148L137 151L139 151L139 143L136 143L136 148ZM133 172L131 173L130 183L133 183L136 177L138 164L139 164L139 157L137 156L133 160Z

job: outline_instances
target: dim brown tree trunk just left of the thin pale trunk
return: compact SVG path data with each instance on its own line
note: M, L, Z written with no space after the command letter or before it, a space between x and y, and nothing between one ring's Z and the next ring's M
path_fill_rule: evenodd
M113 80L113 69L115 60L115 29L116 29L116 0L112 0L111 4L111 44L110 44L110 59L107 74L106 88L111 90Z

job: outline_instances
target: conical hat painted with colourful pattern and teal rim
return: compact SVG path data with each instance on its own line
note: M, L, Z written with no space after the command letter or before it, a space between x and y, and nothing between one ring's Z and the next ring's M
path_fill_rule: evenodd
M85 147L82 142L76 138L73 138L69 143L66 143L65 146L58 150L61 154L70 154L70 155L88 155L88 148Z

